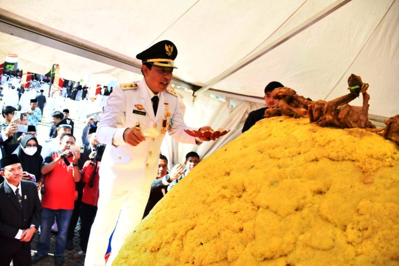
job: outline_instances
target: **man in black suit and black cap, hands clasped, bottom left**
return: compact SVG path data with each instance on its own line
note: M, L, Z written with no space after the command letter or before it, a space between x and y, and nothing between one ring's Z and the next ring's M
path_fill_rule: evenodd
M18 156L0 160L0 265L31 265L30 240L40 225L41 204L36 184L21 180Z

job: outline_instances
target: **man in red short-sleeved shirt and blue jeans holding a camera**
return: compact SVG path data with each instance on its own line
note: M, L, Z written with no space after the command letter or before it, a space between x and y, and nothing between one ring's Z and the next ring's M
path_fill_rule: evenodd
M50 232L54 218L58 226L54 260L56 265L64 263L66 236L75 201L75 182L79 182L81 178L78 168L80 151L71 151L72 145L75 145L75 137L71 134L61 136L61 151L51 153L41 166L41 173L46 175L41 199L43 212L37 254L32 257L32 264L46 257L50 250Z

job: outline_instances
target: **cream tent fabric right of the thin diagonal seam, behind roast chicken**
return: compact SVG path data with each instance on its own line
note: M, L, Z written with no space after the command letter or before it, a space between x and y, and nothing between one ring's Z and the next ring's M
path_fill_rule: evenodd
M357 29L359 30L359 29ZM388 40L388 41L387 41ZM327 100L345 91L351 73L362 75L370 84L369 114L391 117L399 113L399 1L393 2L386 16L371 34L364 48L348 66ZM353 105L362 105L362 97Z

